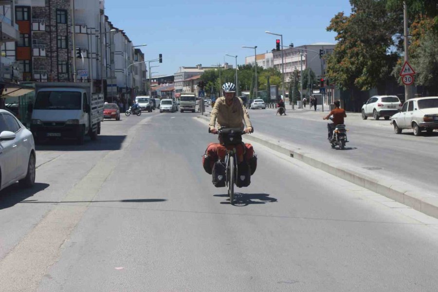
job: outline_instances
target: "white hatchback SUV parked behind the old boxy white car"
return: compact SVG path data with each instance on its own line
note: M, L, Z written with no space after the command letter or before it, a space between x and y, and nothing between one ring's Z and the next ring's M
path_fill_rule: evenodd
M368 99L362 106L362 119L366 120L368 117L373 117L378 120L384 117L389 120L391 116L402 109L400 99L395 95L376 95Z

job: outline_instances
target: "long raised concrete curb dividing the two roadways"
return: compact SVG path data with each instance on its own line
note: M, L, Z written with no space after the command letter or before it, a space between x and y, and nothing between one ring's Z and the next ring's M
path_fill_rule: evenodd
M207 115L199 116L209 121ZM421 190L412 184L397 181L379 181L378 178L367 176L352 169L343 166L332 166L322 159L312 157L309 153L304 153L299 149L293 149L282 146L279 143L271 142L266 138L257 137L256 135L246 135L246 140L250 140L266 146L276 152L287 155L310 166L324 170L338 178L354 183L372 192L378 193L391 200L400 202L428 216L438 218L438 197L428 195L427 191Z

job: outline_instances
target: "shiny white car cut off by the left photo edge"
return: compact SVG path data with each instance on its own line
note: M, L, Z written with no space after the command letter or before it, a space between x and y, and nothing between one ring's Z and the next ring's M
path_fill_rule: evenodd
M16 183L35 183L35 142L31 131L12 114L0 110L0 190Z

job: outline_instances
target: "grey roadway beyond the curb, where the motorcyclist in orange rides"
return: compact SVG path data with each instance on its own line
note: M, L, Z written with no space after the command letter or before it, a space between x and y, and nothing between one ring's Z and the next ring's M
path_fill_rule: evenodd
M437 131L421 137L408 130L396 135L390 121L363 121L359 115L349 114L345 120L348 151L338 151L327 141L327 121L322 120L327 111L288 111L281 117L269 109L249 113L257 133L438 194Z

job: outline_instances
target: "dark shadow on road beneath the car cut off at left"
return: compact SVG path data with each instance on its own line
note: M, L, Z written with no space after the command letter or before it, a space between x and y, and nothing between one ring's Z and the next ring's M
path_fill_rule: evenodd
M0 191L0 210L13 207L47 187L49 187L47 183L35 183L31 188L22 188L18 183L14 183Z

